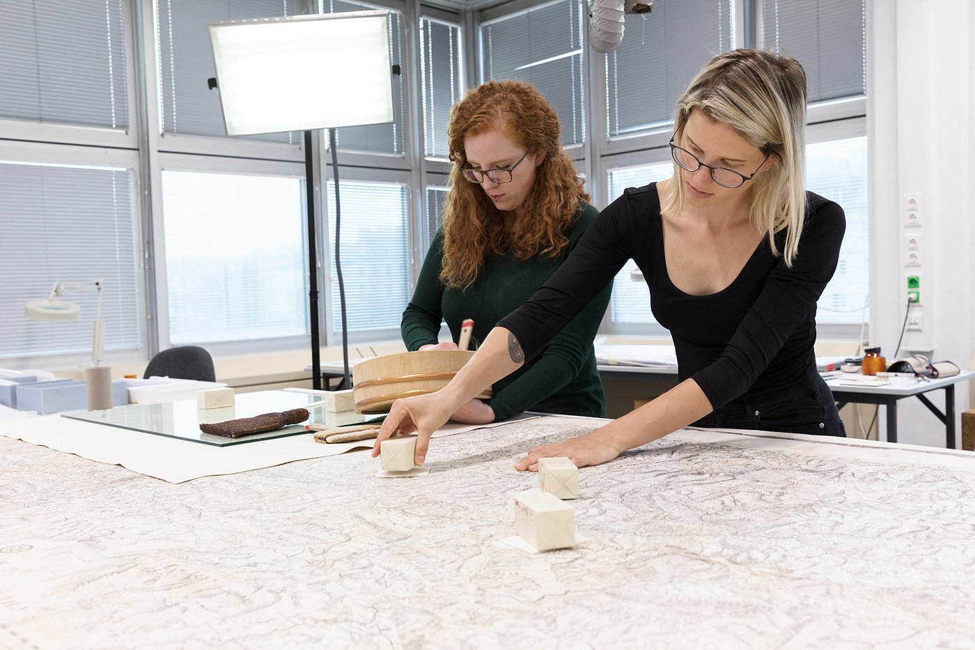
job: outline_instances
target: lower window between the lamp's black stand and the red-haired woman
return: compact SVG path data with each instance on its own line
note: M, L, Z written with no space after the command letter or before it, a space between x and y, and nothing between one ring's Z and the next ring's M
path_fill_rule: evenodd
M340 181L340 256L349 331L400 327L409 302L409 192L401 183ZM329 232L335 232L329 181ZM330 237L330 238L331 238ZM338 278L331 275L331 328L342 328Z

